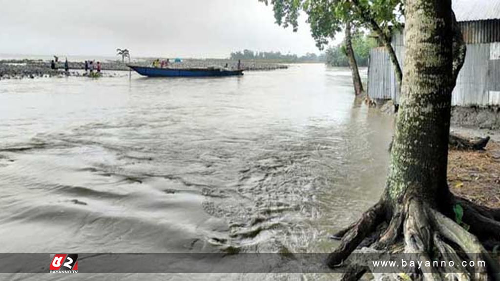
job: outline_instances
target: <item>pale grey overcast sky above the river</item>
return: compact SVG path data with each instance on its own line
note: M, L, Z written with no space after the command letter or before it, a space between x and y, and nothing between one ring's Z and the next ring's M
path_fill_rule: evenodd
M227 57L239 49L319 53L257 0L0 0L0 53Z

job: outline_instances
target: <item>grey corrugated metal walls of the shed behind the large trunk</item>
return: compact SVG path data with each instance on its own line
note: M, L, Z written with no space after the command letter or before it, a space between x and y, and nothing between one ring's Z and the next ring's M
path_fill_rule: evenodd
M493 26L494 24L490 23L493 21L500 23L497 20L482 21L482 25L461 22L463 24L462 30L468 30L467 32L469 32L464 34L464 38L467 36L467 42L490 41L493 39L496 42L467 43L465 62L457 77L452 94L453 105L500 105L500 32L497 32L500 30L500 24L497 25L498 28L496 29L487 27ZM481 30L489 31L470 31L479 30L475 28L484 28ZM498 36L498 39L495 36ZM402 32L399 32L394 34L392 38L394 51L401 67L404 61L403 37ZM374 59L375 57L376 59ZM387 71L389 74L386 73ZM380 73L383 73L383 75L380 75ZM387 90L387 85L389 90ZM399 93L400 89L385 49L372 49L368 65L368 95L370 98L392 99L397 103Z

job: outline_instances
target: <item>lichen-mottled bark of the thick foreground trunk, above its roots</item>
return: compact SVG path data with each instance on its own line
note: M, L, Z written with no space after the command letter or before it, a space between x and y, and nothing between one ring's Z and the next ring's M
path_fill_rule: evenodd
M454 86L450 5L450 0L406 1L404 75L386 188L394 204L412 193L435 206L448 194Z

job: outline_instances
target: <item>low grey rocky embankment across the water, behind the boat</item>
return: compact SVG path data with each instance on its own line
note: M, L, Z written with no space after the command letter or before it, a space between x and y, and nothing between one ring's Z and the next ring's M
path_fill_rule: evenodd
M152 60L144 59L132 64L150 65ZM84 69L83 61L69 61L69 71L64 72L64 62L57 63L57 69L50 68L50 61L43 60L0 60L0 79L19 79L19 78L35 78L35 77L52 77L52 76L81 76L83 73L80 70ZM236 69L237 61L229 59L184 59L182 62L170 61L169 67L176 68L191 68L191 67L224 67L227 64L228 68ZM283 69L288 66L285 64L270 63L265 61L245 60L241 61L241 67L247 71L254 70L274 70ZM105 71L128 71L126 63L119 60L102 61L101 69ZM105 73L104 76L115 76L116 74Z

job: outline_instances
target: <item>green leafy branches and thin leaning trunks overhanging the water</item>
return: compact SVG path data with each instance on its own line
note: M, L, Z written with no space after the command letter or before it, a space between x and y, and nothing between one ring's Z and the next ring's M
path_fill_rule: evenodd
M274 18L278 25L298 28L300 11L307 14L312 37L319 49L328 44L331 38L345 31L345 54L348 57L352 72L352 82L356 95L364 92L355 51L352 47L351 34L360 28L371 30L387 49L398 81L402 79L402 71L397 62L394 49L390 44L391 27L400 26L399 16L404 14L402 0L259 0L271 4Z

